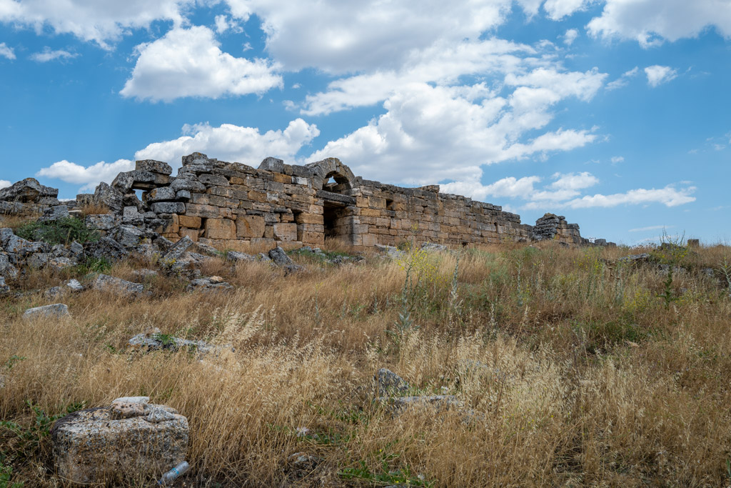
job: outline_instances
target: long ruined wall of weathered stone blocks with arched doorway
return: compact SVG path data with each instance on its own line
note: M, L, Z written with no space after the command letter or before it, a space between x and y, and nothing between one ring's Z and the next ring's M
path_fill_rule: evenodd
M156 233L243 252L317 247L325 239L356 249L412 239L452 247L543 240L613 244L582 238L579 226L562 216L545 214L526 225L500 206L440 193L439 185L404 188L366 180L336 158L300 166L268 157L252 168L196 152L183 157L177 176L172 173L165 162L137 161L135 170L119 173L112 184L102 182L93 195L62 203L57 189L26 179L0 189L0 213L57 218L80 213L80 206L103 205L110 215L89 216L87 225L121 233L130 244Z

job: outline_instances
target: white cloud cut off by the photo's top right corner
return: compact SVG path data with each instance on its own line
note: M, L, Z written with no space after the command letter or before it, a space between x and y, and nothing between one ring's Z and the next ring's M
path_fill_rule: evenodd
M695 37L710 26L731 37L728 0L607 0L587 29L595 37L633 39L648 47Z

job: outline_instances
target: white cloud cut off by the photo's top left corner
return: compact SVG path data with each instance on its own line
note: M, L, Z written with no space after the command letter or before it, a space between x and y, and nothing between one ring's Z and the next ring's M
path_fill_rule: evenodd
M193 0L0 0L0 21L42 32L50 26L56 34L73 34L111 48L130 29L146 28L154 20L183 22L181 10Z

